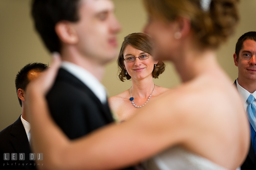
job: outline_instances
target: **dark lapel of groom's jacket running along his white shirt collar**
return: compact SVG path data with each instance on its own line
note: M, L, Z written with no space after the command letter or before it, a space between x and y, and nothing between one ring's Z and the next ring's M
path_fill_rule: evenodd
M95 103L98 104L98 106L100 106L100 109L102 110L102 116L105 117L106 121L108 123L113 122L113 117L110 113L108 103L102 104L101 101L96 97L96 95L83 82L81 82L78 78L76 78L74 75L64 70L63 68L60 68L57 79L58 78L68 81L69 83L74 84L74 86L80 88L82 91L86 92L86 94L88 94L91 99L94 100Z

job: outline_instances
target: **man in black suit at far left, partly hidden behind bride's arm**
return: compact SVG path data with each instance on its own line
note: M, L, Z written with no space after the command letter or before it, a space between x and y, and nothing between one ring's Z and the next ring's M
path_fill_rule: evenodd
M9 153L8 157L4 155L1 159L0 169L15 169L15 170L35 170L37 164L30 161L29 154L32 153L30 149L30 123L26 116L26 87L28 83L37 78L43 72L47 65L34 62L23 67L15 79L16 92L18 100L22 108L20 117L10 126L6 127L0 132L0 155ZM11 160L11 153L17 153L15 159ZM19 153L24 153L25 160L19 160Z

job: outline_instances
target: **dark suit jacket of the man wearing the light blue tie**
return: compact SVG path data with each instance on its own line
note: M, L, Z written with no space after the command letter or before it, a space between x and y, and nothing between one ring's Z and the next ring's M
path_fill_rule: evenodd
M236 88L236 80L233 84ZM252 142L250 141L250 149L249 149L249 153L244 161L244 163L242 164L241 166L241 170L256 170L256 157L255 157L255 154L254 154L254 149L252 147Z

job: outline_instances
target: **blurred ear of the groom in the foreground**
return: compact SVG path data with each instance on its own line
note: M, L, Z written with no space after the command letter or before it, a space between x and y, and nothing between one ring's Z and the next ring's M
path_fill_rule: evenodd
M78 42L78 35L73 25L68 21L59 21L55 25L55 32L63 43L76 44Z

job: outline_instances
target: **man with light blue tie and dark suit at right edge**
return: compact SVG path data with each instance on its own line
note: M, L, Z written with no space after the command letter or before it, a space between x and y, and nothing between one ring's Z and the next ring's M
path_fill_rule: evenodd
M233 57L238 67L234 85L242 97L251 127L251 146L241 170L256 170L256 32L247 32L238 39Z

